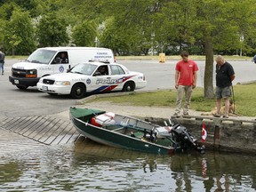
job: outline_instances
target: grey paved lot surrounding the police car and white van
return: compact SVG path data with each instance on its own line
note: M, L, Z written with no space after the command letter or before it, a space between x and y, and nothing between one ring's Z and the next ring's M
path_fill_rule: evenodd
M13 86L8 76L11 74L12 64L19 60L6 60L5 74L0 76L1 116L44 116L57 114L68 110L77 100L67 96L52 97L47 93L38 92L36 87L29 87L20 91ZM143 72L148 80L148 86L142 90L172 89L174 85L175 63L177 60L167 60L164 64L157 60L119 60L127 68ZM197 85L204 86L204 61L197 61L200 71ZM256 79L256 65L250 60L230 61L236 71L236 83L253 81ZM141 91L142 91L141 90Z

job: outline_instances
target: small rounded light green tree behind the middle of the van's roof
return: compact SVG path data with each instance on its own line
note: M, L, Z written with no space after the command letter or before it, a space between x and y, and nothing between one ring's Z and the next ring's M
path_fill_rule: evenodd
M72 30L72 40L76 46L94 46L95 37L98 36L96 24L84 20Z

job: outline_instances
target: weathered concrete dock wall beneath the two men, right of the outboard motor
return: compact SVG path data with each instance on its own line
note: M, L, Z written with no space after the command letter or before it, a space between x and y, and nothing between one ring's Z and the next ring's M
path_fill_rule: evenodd
M161 120L162 121L162 120ZM256 121L239 118L218 118L212 116L187 116L187 118L172 118L172 122L183 124L188 131L201 139L204 122L207 139L206 149L249 153L256 155Z

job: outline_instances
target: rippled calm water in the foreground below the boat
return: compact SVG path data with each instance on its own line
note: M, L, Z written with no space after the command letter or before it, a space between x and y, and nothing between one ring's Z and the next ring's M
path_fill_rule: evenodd
M0 157L0 191L256 191L255 167L255 156L156 156L78 141Z

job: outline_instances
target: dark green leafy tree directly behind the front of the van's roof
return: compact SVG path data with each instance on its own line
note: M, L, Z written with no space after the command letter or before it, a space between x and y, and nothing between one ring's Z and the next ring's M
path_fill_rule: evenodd
M44 15L36 30L39 47L68 45L67 23L56 17L55 12Z

